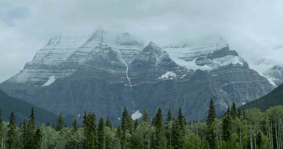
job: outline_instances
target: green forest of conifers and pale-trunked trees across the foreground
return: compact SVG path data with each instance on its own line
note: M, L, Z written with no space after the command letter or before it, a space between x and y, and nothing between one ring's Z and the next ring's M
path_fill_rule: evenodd
M57 124L36 125L35 115L32 108L20 125L13 111L9 122L0 117L0 149L283 148L283 106L238 111L233 103L219 119L211 99L206 122L186 121L181 108L176 116L159 108L152 119L144 110L141 120L133 121L125 107L118 127L94 113L85 112L82 127L76 120L66 127L62 114Z

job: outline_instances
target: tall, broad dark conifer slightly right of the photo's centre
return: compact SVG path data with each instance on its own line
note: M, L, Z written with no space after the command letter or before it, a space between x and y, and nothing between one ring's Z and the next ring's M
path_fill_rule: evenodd
M166 134L163 125L163 117L161 108L158 109L157 114L154 118L154 127L156 131L152 139L152 148L153 149L166 149Z

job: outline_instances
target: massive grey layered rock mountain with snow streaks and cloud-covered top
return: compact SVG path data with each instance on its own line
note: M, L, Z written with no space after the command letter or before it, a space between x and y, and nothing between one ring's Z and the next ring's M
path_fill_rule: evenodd
M126 106L130 113L147 108L151 115L158 107L182 107L187 120L203 120L211 98L221 114L233 101L241 105L273 89L223 39L216 39L161 48L103 30L56 37L0 88L73 118L89 111L118 124Z

